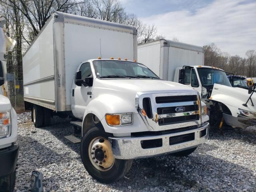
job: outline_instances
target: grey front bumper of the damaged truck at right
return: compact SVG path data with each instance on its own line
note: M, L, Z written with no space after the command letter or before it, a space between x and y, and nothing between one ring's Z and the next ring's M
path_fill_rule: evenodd
M223 118L226 124L232 127L246 128L248 126L256 125L256 119L251 119L244 116L234 117L232 115L223 113Z

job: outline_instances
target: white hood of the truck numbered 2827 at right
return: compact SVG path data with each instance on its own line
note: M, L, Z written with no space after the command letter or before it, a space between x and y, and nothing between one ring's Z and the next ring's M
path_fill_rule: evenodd
M252 102L254 106L252 106L251 101L247 103L247 107L242 104L246 103L250 94L248 94L248 90L238 87L229 87L220 84L214 84L211 100L216 100L223 104L232 106L232 108L243 109L251 112L256 112L256 92L252 95ZM232 110L231 110L232 112ZM237 112L237 110L236 110ZM233 114L233 112L232 112Z

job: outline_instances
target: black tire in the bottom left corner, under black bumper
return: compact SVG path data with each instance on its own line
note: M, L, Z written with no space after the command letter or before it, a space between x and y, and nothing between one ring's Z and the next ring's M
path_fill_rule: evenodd
M0 192L13 192L15 187L16 171L0 178Z

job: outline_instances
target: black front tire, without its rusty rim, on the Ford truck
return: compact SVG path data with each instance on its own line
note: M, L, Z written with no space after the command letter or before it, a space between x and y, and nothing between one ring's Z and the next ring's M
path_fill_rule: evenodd
M92 126L83 136L80 146L82 162L92 178L102 183L112 183L122 178L131 168L133 160L114 159L113 166L106 171L96 169L90 161L88 147L90 142L97 137L108 138L101 125Z

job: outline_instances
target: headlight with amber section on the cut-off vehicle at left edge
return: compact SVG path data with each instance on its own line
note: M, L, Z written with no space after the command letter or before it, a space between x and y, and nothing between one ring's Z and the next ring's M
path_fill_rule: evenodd
M10 135L11 118L10 112L0 112L0 138Z

